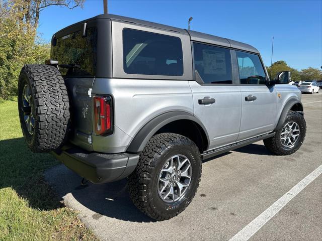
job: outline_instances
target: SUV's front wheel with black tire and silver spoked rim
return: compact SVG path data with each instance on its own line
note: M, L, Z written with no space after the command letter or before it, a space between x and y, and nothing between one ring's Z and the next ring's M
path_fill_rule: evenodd
M303 144L306 134L306 123L302 114L289 111L283 126L273 137L264 140L265 147L275 155L290 155Z

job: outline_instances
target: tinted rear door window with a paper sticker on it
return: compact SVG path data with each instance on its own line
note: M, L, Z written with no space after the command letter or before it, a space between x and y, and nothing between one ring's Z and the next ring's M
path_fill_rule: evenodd
M195 70L205 83L231 84L230 50L194 43Z

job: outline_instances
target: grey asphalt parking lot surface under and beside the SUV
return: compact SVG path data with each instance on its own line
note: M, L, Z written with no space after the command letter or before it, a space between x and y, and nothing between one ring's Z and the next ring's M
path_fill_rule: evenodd
M102 240L229 240L322 164L322 94L303 94L302 103L307 133L296 153L272 156L261 141L205 160L193 202L167 221L137 210L125 180L81 186L63 165L46 180ZM322 240L321 175L250 237L267 239Z

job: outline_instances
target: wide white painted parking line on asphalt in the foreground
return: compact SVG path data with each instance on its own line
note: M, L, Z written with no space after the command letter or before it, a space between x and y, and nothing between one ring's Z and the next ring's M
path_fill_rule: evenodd
M269 208L262 212L258 217L251 221L246 227L236 233L229 241L248 240L253 236L265 223L267 223L276 213L278 213L289 201L293 199L300 191L322 173L322 165L308 174L302 181L297 183L291 190L285 193L281 198L274 202Z

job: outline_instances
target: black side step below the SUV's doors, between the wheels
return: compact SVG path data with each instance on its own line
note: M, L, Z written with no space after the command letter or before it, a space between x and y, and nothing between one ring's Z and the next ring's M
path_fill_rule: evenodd
M264 135L257 136L257 137L247 139L247 140L241 140L241 141L229 144L227 146L218 147L218 148L215 148L215 149L212 149L212 150L205 151L204 153L201 154L201 157L202 157L202 159L207 159L207 158L210 158L210 157L214 157L214 156L220 155L222 153L229 152L231 150L247 146L247 145L252 144L254 142L258 142L258 141L261 141L263 139L270 138L270 137L272 137L274 135L275 135L275 132L269 133L269 134L264 134Z

